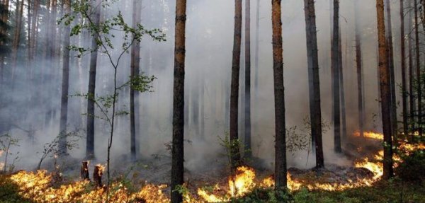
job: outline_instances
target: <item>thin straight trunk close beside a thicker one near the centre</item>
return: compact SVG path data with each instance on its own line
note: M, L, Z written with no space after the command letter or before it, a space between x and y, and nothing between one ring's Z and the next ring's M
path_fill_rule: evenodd
M251 153L251 0L245 0L245 149L244 156Z

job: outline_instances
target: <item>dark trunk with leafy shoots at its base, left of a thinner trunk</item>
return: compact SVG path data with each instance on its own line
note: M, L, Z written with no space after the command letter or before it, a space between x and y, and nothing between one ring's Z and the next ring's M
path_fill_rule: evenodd
M234 35L233 35L233 59L232 59L232 82L230 84L230 142L238 141L238 97L239 97L239 69L241 58L242 38L242 0L234 0ZM230 166L235 170L239 165L239 146L232 145L232 158Z

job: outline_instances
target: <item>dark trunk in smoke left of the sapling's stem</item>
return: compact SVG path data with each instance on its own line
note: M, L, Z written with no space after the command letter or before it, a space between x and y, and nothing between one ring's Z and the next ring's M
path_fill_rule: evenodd
M71 1L64 2L65 13L71 13ZM62 135L59 141L59 151L61 155L67 153L67 120L68 120L68 90L69 90L69 36L70 25L64 28L64 55L62 61L62 97L60 102L60 127L59 134Z

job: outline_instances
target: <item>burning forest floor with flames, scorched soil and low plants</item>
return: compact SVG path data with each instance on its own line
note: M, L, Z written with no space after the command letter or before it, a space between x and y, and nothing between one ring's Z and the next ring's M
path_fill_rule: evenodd
M425 202L424 179L404 180L397 175L400 172L396 168L396 178L381 180L381 141L373 137L366 139L367 146L359 147L365 142L358 137L345 146L344 156L353 161L353 166L327 164L320 170L289 168L290 193L285 197L272 190L272 170L243 167L235 177L229 178L225 164L186 170L186 185L181 192L186 202L284 202L279 198L290 199L288 202ZM402 142L399 149L423 154L425 145ZM399 158L395 161L396 167L401 166ZM67 166L62 166L67 168L63 174L54 168L51 172L0 174L0 202L105 202L104 188L79 180L79 163L68 160ZM171 160L166 156L152 156L133 164L119 163L118 166L128 167L111 173L111 202L169 202L170 165ZM106 175L103 179L106 180Z

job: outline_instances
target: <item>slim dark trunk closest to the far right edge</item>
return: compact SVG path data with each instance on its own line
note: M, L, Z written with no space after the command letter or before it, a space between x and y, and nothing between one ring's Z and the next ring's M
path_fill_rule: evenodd
M417 98L418 98L418 132L419 136L422 137L422 91L421 91L421 55L419 54L419 17L418 17L418 4L417 0L414 0L414 35L416 42L416 81L417 81Z

